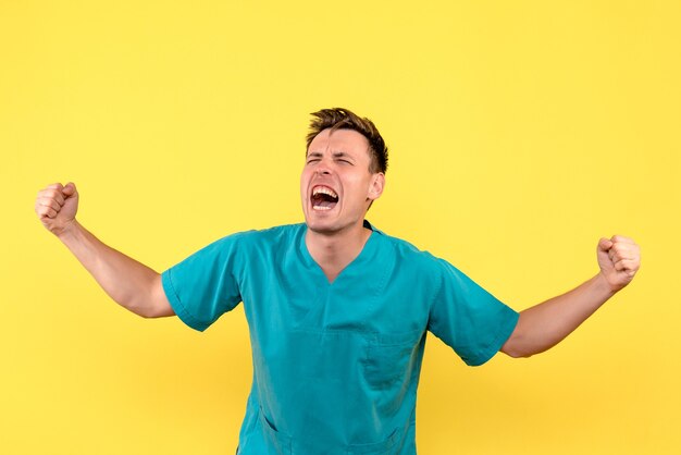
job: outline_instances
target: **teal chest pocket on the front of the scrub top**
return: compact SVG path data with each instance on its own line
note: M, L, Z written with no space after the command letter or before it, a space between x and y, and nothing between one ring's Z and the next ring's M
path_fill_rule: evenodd
M418 374L423 337L422 330L372 335L363 361L367 383L381 390L409 384L411 374Z

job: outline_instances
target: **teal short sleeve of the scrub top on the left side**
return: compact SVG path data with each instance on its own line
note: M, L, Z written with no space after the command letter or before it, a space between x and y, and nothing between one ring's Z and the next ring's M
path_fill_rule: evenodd
M242 302L239 235L221 238L161 274L163 291L179 319L203 331Z

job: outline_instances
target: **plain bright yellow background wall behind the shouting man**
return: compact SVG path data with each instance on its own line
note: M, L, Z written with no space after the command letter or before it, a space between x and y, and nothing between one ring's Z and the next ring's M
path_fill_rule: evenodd
M240 306L200 334L111 302L34 213L162 271L302 220L309 112L391 148L369 219L520 310L635 281L553 351L466 367L430 336L422 454L680 453L681 7L676 1L0 2L0 452L231 454L251 366Z

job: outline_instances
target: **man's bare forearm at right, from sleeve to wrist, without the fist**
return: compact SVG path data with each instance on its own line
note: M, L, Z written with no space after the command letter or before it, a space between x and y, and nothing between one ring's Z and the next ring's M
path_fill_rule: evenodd
M542 353L566 336L615 295L598 273L562 295L520 312L516 330L502 347L511 357Z

